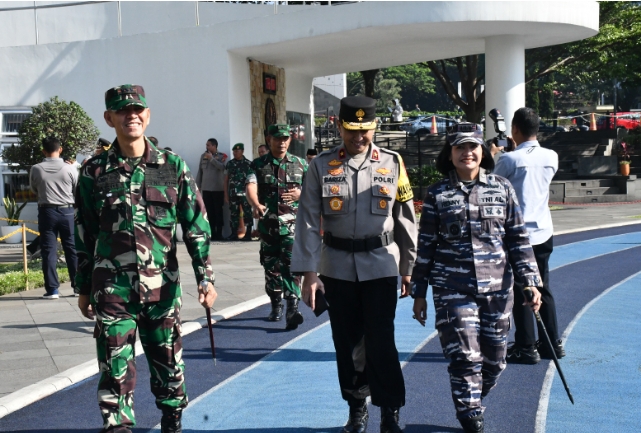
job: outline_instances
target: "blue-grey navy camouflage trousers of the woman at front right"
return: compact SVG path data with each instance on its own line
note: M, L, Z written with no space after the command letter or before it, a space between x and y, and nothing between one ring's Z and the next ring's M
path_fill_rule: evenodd
M433 287L436 329L459 419L483 413L485 397L505 370L512 289L468 294Z

